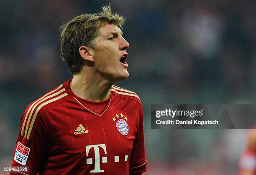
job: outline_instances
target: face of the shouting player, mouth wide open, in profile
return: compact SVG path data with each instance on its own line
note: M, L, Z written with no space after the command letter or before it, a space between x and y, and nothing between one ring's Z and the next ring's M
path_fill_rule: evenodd
M129 48L129 43L122 37L123 32L116 25L106 23L99 33L92 53L97 72L111 81L128 78L126 49Z

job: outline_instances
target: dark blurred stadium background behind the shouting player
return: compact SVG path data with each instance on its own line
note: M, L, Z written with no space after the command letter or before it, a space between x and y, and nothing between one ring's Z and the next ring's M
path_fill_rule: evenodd
M0 165L10 165L25 107L71 78L62 24L111 4L127 18L130 77L143 102L145 175L234 175L246 130L151 130L151 104L256 102L255 0L0 1ZM243 116L241 116L243 117Z

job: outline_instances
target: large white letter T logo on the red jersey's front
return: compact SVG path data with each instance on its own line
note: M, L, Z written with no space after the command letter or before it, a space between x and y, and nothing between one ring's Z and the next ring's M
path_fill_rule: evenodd
M106 145L105 144L98 144L98 145L85 146L87 156L89 155L89 150L92 147L94 148L94 154L95 154L95 163L94 163L95 168L94 168L94 170L91 170L90 172L91 173L103 173L104 170L100 169L100 151L99 151L99 147L103 148L104 153L107 154ZM107 162L108 162L107 157L102 157L102 163L107 163ZM92 158L87 158L86 163L87 163L87 165L92 164Z

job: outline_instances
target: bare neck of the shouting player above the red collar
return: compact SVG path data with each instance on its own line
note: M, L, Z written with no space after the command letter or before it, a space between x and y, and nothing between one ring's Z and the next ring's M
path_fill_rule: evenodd
M107 100L110 95L110 88L113 85L113 82L105 80L100 75L88 75L80 72L77 75L74 75L74 78L70 82L71 90L78 97L99 102Z

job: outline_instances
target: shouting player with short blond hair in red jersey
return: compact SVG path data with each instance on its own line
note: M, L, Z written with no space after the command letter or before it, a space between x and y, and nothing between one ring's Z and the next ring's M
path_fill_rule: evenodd
M73 79L32 102L21 117L13 174L142 174L147 170L143 109L128 77L124 18L109 6L61 28L61 54Z

